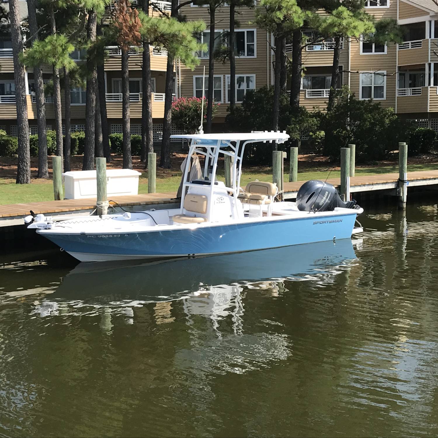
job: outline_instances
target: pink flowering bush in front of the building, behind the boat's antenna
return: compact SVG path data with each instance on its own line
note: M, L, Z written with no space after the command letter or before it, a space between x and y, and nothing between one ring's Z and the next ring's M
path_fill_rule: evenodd
M204 97L204 123L207 120L207 99ZM199 97L180 97L172 103L172 124L186 134L194 134L201 124L202 99ZM213 102L213 117L219 103Z

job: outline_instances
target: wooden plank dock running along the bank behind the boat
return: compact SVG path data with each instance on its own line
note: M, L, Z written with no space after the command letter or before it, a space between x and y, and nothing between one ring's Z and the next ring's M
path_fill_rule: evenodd
M363 177L350 177L350 192L378 191L395 189L398 184L398 173L385 173ZM408 174L409 186L438 185L438 170L410 172ZM339 187L340 178L329 178L329 184ZM297 191L304 181L284 183L284 198L294 199ZM131 196L113 196L108 198L116 201L122 207L139 210L143 206L163 208L162 204L174 208L179 200L175 199L175 192L149 193ZM26 204L0 205L0 226L18 225L23 223L23 218L32 210L35 214L49 215L78 215L92 212L95 209L95 198L89 199L64 199L63 201L29 202ZM137 208L136 208L137 207Z

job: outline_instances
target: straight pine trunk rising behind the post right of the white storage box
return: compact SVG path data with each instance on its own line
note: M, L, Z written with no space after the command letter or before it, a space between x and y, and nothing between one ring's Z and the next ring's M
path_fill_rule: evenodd
M146 15L149 15L149 0L143 1L143 11ZM141 80L141 90L143 91L141 102L141 161L145 161L147 166L148 153L154 152L151 54L149 52L149 42L143 43L143 65L141 67Z

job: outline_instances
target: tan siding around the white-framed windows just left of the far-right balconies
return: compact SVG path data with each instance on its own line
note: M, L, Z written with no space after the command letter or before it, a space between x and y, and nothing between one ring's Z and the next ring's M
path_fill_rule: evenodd
M393 2L392 2L393 3ZM386 71L386 99L378 100L382 106L395 107L396 105L396 45L389 44L386 55L360 55L360 45L357 41L351 42L351 75L350 89L359 99L359 73Z

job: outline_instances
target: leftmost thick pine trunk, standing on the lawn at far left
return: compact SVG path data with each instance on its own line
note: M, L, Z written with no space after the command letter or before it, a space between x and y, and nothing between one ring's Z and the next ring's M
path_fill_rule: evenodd
M29 122L26 99L26 71L20 61L23 53L18 0L9 0L12 51L14 54L15 101L17 106L18 166L17 184L30 184Z

